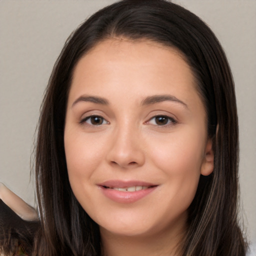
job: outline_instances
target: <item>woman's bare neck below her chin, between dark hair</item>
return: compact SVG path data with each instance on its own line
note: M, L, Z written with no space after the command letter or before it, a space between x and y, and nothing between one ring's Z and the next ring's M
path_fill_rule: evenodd
M180 256L179 245L185 235L185 225L175 223L157 233L127 236L100 227L103 256Z

